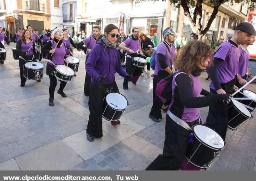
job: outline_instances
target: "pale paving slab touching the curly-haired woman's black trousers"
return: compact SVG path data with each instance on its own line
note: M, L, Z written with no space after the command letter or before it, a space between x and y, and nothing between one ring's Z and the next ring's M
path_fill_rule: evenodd
M138 152L153 161L158 155L163 154L163 149L149 143L145 147L139 149Z

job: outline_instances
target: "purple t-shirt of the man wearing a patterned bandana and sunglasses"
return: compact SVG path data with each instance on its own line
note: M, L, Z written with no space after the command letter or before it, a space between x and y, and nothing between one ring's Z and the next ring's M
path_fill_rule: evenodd
M157 54L163 54L165 56L165 61L168 65L169 68L172 67L172 64L174 62L174 56L175 56L175 46L174 44L172 43L171 44L172 47L170 47L169 45L166 45L165 42L162 42L160 43L158 46L157 46L157 49L156 49L156 68L155 68L155 72L154 74L157 76L158 75L158 71L159 70L164 70L160 63L158 62L158 56ZM168 47L168 48L167 48ZM171 52L171 54L169 53ZM171 55L171 61L170 61L170 55Z

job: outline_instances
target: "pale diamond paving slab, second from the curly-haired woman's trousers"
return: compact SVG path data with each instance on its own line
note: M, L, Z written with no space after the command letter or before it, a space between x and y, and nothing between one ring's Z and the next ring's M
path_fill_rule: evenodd
M122 141L122 143L131 147L135 151L138 151L139 149L146 146L149 142L145 141L144 139L142 139L134 134L134 135L130 136L129 138L126 138L124 141Z

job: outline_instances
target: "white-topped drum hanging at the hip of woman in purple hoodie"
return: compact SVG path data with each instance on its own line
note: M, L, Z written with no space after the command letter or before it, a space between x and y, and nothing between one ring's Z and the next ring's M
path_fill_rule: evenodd
M120 93L109 93L103 100L102 117L108 121L118 121L128 106L127 99Z

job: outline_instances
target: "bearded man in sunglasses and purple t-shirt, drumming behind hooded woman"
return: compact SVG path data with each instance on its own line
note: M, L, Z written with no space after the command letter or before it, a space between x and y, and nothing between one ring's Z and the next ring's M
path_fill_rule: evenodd
M134 79L136 79L136 82L140 77L142 68L136 69L136 66L132 64L132 58L138 57L138 53L137 54L135 53L138 50L140 50L139 55L143 55L141 46L140 46L139 34L140 34L139 28L133 28L132 29L132 37L128 38L127 40L125 40L123 43L121 43L119 45L119 48L127 51L126 52L126 54L127 54L126 55L126 72L129 75L133 75L133 73L136 70L136 72L135 72L136 77L134 77ZM128 79L124 79L123 89L128 90Z

